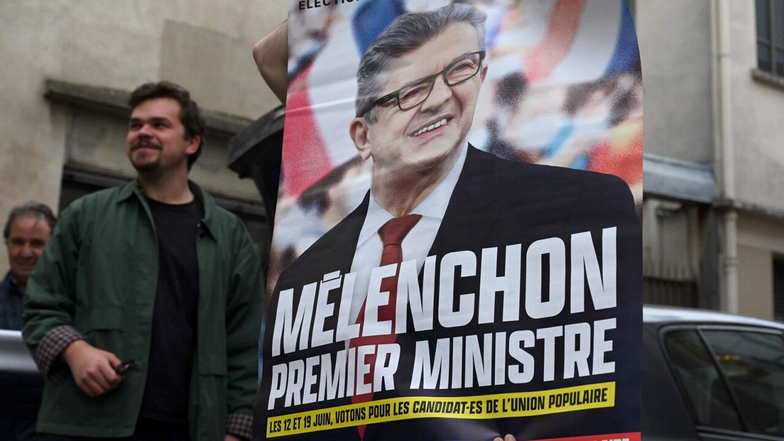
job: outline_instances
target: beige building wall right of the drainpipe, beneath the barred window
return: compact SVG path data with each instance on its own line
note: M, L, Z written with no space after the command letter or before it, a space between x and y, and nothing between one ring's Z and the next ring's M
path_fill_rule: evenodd
M784 211L784 89L753 78L757 24L753 5L729 2L732 133L738 202L762 212ZM740 213L740 312L773 318L774 254L784 254L784 220Z

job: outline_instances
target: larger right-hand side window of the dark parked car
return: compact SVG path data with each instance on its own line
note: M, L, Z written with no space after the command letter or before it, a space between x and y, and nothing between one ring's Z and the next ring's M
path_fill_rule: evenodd
M784 436L784 339L780 334L705 330L737 400L746 432Z

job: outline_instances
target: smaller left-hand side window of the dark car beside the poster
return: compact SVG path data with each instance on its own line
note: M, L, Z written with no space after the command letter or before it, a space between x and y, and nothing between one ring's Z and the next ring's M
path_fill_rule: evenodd
M742 430L716 363L696 330L677 330L664 338L667 355L698 425Z

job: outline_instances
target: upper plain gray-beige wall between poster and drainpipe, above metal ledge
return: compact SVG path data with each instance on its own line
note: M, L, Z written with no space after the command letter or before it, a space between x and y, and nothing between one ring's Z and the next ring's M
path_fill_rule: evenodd
M645 152L713 162L709 2L637 0L634 18L645 88Z

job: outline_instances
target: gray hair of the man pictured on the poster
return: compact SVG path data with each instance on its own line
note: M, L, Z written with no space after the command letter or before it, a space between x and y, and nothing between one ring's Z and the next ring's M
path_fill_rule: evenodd
M471 5L452 4L434 11L398 16L379 35L362 56L357 70L357 99L354 110L359 112L378 99L387 78L383 75L389 61L419 49L435 38L450 24L466 22L477 31L479 49L485 50L485 20L487 14ZM376 108L368 111L365 119L376 122Z

